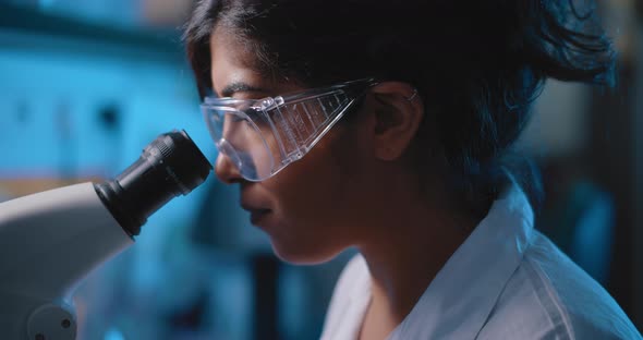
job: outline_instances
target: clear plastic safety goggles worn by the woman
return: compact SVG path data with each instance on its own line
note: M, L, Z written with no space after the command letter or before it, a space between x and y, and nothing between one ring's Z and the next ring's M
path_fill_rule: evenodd
M219 151L258 182L304 157L374 85L369 78L283 97L206 97L202 110Z

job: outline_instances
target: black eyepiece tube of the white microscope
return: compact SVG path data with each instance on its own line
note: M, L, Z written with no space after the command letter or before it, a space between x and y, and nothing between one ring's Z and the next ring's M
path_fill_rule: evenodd
M141 157L114 180L95 184L114 219L131 236L147 218L207 179L213 166L185 131L159 135Z

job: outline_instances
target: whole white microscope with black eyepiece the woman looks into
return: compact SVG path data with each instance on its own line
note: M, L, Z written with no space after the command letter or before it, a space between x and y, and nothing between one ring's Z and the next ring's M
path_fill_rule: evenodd
M82 279L211 170L185 131L172 131L113 180L0 203L0 339L75 339L72 298Z

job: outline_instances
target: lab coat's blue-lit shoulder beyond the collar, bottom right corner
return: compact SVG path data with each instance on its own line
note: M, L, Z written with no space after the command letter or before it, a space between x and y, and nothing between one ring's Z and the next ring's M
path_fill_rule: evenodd
M538 232L478 339L642 339L614 299Z

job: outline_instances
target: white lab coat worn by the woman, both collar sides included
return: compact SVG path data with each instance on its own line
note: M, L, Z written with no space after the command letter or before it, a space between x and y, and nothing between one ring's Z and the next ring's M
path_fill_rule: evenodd
M524 193L512 185L389 339L642 339L614 299L533 220ZM369 299L368 268L357 255L339 278L322 339L356 339Z

